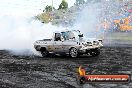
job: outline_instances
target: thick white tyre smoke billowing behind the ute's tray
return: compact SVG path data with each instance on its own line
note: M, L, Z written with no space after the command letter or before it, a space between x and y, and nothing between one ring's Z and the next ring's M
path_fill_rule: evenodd
M36 40L51 38L54 31L64 28L42 24L28 16L0 16L0 50L7 49L16 52L33 51Z

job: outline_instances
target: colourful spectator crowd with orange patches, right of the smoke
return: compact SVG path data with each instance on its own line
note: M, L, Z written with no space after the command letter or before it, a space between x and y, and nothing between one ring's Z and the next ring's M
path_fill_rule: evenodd
M103 6L100 29L104 31L131 31L131 2L109 2Z

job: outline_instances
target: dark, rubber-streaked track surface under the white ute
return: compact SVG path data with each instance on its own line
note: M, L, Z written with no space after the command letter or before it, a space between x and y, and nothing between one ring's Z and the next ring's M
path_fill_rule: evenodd
M103 47L98 57L13 55L0 51L0 88L132 88L132 82L78 85L77 69L91 74L132 74L132 47Z

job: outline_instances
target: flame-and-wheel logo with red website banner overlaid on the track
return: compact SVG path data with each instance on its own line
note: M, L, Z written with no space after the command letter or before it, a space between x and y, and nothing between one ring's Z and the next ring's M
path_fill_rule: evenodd
M84 84L88 83L128 83L130 82L131 78L130 75L127 74L86 74L85 69L80 66L79 69L79 76L78 76L78 83Z

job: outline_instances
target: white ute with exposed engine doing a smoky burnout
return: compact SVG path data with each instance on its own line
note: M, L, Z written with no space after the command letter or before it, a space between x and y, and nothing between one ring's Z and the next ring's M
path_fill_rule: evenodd
M34 48L41 52L43 57L50 53L68 54L73 58L82 54L98 56L102 46L102 40L87 40L79 30L55 32L52 39L34 43Z

